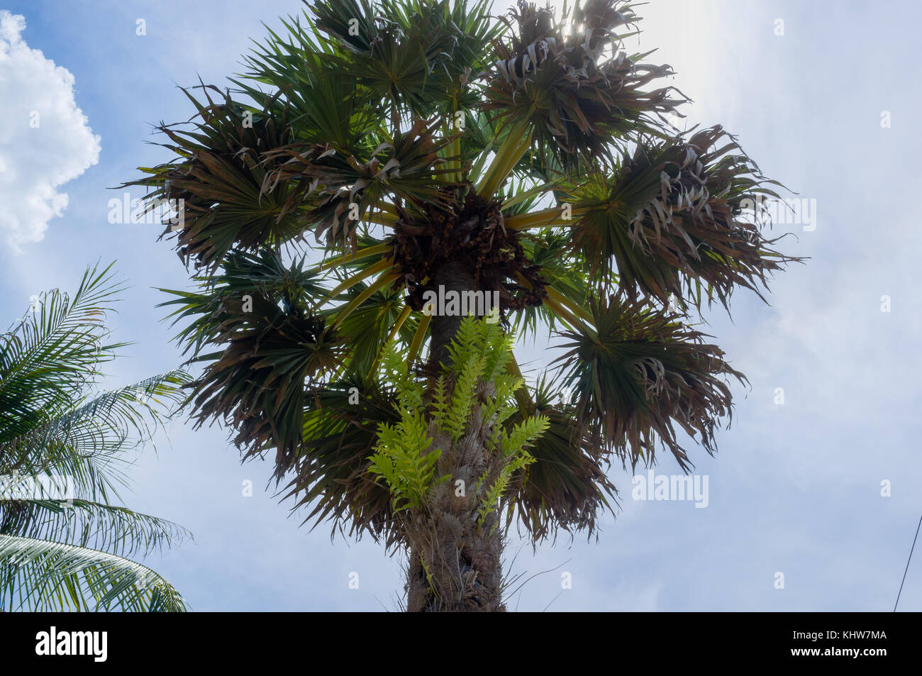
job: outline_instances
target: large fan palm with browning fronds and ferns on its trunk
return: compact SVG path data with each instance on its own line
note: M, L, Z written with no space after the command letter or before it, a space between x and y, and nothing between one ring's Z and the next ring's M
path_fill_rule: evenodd
M124 184L183 205L192 415L274 452L307 520L408 552L408 610L502 610L515 519L592 532L611 461L714 452L744 376L687 320L795 260L762 235L774 182L668 123L685 97L625 52L621 0L310 6L232 89L185 90L175 157ZM565 351L526 381L504 341L538 330Z

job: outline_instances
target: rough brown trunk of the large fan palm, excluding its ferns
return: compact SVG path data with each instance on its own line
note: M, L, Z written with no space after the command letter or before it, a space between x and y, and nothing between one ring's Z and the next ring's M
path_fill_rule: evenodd
M433 280L436 291L476 291L471 271L459 264L442 267ZM461 316L432 317L432 362L448 362L448 345L455 337ZM451 480L431 492L431 517L413 524L408 532L408 611L505 611L502 605L502 529L495 512L482 523L477 480L491 476L501 458L491 457L486 443L491 425L473 411L461 442L435 436L434 447L443 451L435 476Z

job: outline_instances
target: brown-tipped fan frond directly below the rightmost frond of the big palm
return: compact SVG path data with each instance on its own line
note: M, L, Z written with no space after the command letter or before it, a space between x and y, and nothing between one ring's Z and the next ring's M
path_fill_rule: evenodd
M562 335L570 350L558 361L573 388L581 436L622 458L652 462L656 440L688 468L673 423L715 451L717 422L730 415L731 396L722 376L745 376L724 352L680 317L621 296L593 301L592 325Z

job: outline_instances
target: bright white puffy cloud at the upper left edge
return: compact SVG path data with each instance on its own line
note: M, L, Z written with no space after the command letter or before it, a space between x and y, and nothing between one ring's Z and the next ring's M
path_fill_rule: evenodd
M0 231L16 252L64 214L68 197L58 188L100 159L74 76L30 49L25 28L25 18L0 11Z

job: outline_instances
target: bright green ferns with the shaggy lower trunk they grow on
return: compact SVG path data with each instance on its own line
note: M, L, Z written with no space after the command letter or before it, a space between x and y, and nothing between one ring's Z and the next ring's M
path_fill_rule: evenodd
M527 448L549 421L504 426L523 380L504 371L512 337L500 326L465 318L448 353L430 387L408 374L395 344L385 347L381 377L395 386L400 420L379 426L369 471L386 482L395 528L413 552L409 610L499 611L499 516L511 524L509 485L534 462Z

